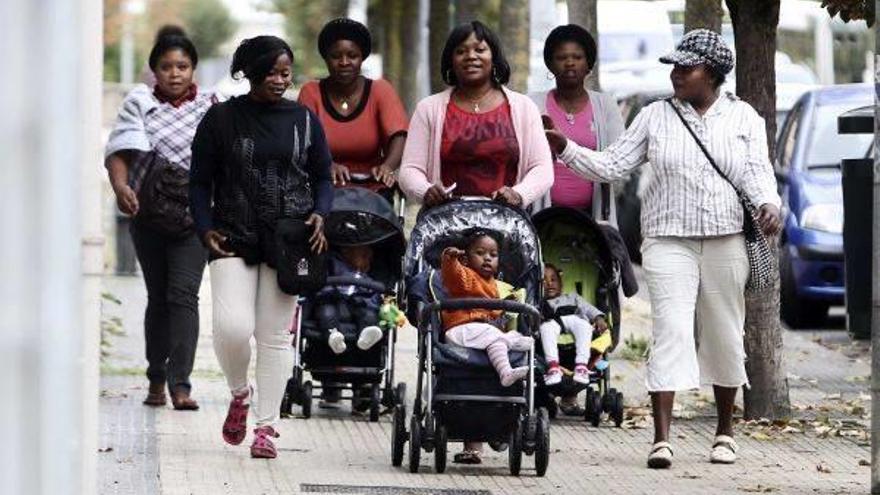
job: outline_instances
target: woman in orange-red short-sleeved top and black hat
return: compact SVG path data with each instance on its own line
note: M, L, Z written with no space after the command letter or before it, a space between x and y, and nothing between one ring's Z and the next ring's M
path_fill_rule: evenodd
M394 88L361 75L372 50L370 32L351 19L334 19L318 35L329 75L306 83L299 102L321 120L333 155L333 183L355 184L390 199L406 141L407 117Z

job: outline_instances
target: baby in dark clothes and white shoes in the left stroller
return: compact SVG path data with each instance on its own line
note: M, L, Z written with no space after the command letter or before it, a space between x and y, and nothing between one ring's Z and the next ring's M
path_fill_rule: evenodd
M367 275L372 261L371 246L342 246L330 257L328 275L374 281ZM321 289L315 295L315 318L321 328L328 329L327 344L330 349L336 354L342 354L347 348L345 335L338 330L341 321L350 321L360 329L357 340L359 349L365 351L381 341L381 305L382 294L366 286L330 285Z

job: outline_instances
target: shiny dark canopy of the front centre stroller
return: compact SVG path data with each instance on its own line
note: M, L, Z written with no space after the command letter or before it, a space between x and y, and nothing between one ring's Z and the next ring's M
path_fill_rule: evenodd
M541 295L541 245L528 215L489 200L462 200L442 204L419 213L410 234L404 258L407 279L429 265L439 267L440 253L460 242L475 227L501 239L499 278L525 289L526 302L536 304Z

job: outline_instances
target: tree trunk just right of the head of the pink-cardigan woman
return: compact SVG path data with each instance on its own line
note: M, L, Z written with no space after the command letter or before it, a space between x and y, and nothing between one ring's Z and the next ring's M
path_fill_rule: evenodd
M501 5L501 43L510 62L510 87L525 93L529 82L529 1L506 0Z

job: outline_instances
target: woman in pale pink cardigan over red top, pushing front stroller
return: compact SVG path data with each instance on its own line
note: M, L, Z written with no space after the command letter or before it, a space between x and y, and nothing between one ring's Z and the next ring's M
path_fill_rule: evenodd
M400 187L425 207L453 196L485 196L528 206L553 184L541 115L506 87L510 65L488 27L456 27L440 61L449 89L419 102L400 166ZM478 464L482 444L465 442L455 462Z

